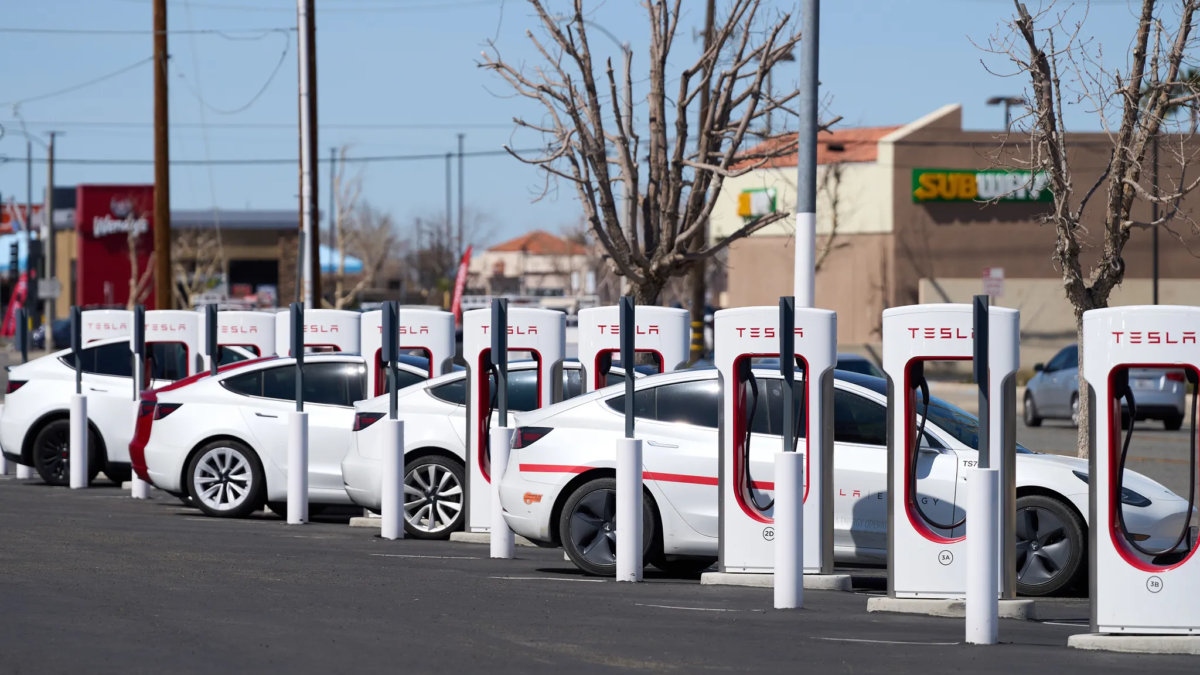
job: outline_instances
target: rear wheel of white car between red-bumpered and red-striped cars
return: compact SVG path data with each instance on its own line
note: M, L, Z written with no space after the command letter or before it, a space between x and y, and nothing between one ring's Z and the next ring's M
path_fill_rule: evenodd
M466 524L466 471L442 455L404 464L404 536L449 539Z

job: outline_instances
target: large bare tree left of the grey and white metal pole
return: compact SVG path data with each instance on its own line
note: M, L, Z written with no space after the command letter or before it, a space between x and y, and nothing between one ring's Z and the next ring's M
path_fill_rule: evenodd
M772 96L766 88L770 68L800 40L791 14L763 10L762 0L732 0L727 14L715 19L708 48L691 65L671 72L682 0L646 0L650 46L643 148L636 125L623 118L618 94L632 90L628 66L632 59L626 59L619 78L611 59L602 65L594 61L583 0L574 1L574 12L565 19L551 14L544 0L528 2L540 19L542 36L532 31L527 36L541 62L514 65L493 43L480 64L542 108L540 120L514 120L517 129L541 135L545 147L539 156L522 157L506 149L545 173L542 196L557 180L575 187L589 229L608 253L608 265L629 277L638 303L656 304L667 281L686 274L696 259L709 258L790 215L763 216L716 243L698 240L725 179L796 153L794 141L743 150L756 120L773 110L794 114L787 106L797 91ZM701 118L697 108L703 91L710 103ZM625 217L624 227L618 184L634 202L625 207L641 213L640 219Z

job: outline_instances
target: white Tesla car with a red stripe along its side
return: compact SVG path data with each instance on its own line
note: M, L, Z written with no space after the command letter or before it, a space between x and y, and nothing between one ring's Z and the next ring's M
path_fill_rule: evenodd
M778 371L755 375L779 382ZM750 467L756 483L770 484L774 453L780 449L782 394L778 384L760 389L770 399L756 406ZM719 401L715 370L637 383L636 435L644 441L649 495L646 560L656 567L695 571L716 560ZM562 545L580 568L594 574L616 571L613 454L614 440L624 432L623 411L624 393L607 388L521 414L500 482L504 516L514 532ZM886 563L886 381L836 371L834 425L834 557ZM977 460L976 432L974 416L932 399L923 442L929 448L923 454L956 455L960 468L953 480L960 483L961 467ZM1046 595L1086 574L1087 461L1018 452L1018 590ZM956 513L955 518L964 513L955 503L954 484L922 478L920 491L923 500L931 503L937 495L942 502L926 508ZM1126 479L1123 501L1130 531L1146 537L1151 546L1171 545L1190 518L1186 500L1134 472ZM959 528L947 534L962 533Z

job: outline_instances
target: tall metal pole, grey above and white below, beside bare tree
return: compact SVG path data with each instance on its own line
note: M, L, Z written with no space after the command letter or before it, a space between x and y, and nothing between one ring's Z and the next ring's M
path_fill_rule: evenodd
M815 306L817 225L817 54L821 1L803 0L796 183L796 306Z

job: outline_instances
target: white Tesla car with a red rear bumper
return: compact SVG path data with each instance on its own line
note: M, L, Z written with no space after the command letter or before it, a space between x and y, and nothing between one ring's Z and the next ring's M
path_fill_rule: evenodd
M358 354L305 357L308 501L314 512L350 503L341 465L354 404L365 396L366 368ZM401 359L401 387L427 378L425 359ZM244 518L264 504L283 512L295 359L258 359L181 384L143 393L130 444L138 474L176 496L191 496L208 515Z

